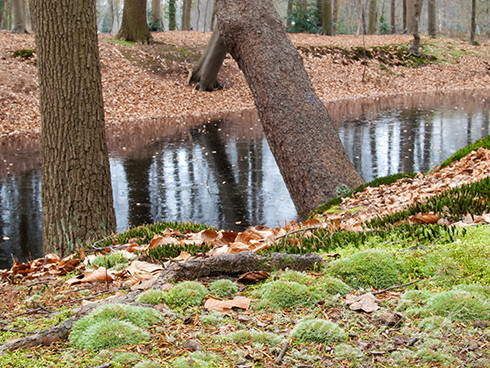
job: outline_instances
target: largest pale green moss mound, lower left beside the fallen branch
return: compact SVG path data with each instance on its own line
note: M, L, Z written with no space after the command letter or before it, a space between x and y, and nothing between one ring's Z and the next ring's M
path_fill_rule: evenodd
M157 323L161 318L160 313L152 308L125 304L104 305L73 324L70 341L75 346L90 350L138 342L149 337L143 328ZM110 326L117 326L127 337L123 333L112 333Z

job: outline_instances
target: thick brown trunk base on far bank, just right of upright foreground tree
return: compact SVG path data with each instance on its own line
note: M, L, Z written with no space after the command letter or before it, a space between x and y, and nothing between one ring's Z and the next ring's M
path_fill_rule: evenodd
M151 33L146 22L146 0L124 0L121 29L116 38L129 42L151 42Z

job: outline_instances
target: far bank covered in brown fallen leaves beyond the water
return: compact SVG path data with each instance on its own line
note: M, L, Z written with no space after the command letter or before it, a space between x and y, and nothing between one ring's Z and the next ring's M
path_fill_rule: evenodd
M111 35L101 35L107 123L253 107L243 74L229 56L219 76L222 90L200 92L187 85L188 70L198 60L210 35L192 31L156 33L152 45L123 44L111 40ZM292 34L291 39L322 100L490 85L488 41L473 46L457 40L423 38L423 51L439 62L409 68L395 62L387 64L379 57L386 54L383 46L408 45L412 39L408 35ZM368 52L364 53L363 48ZM0 31L0 138L28 133L36 136L40 132L36 55L14 56L16 51L32 49L33 35ZM395 57L396 51L391 50Z

